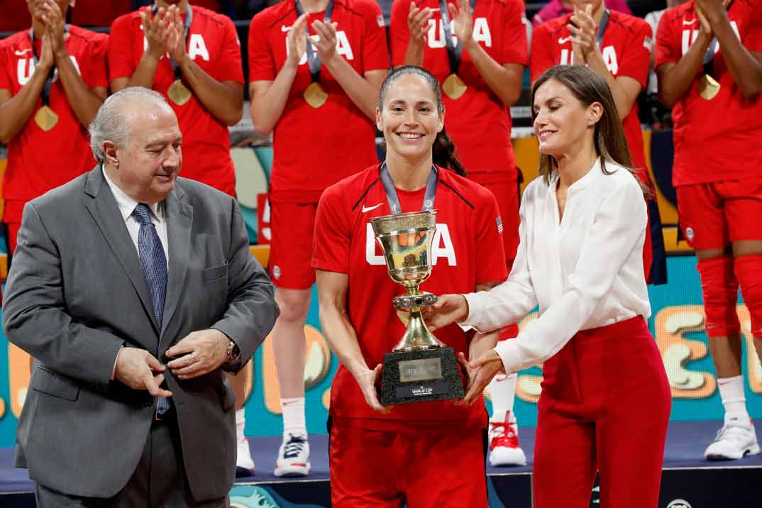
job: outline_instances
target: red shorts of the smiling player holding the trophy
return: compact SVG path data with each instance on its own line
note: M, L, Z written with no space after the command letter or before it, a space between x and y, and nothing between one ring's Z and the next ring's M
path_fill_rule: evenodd
M484 431L331 427L331 506L487 508Z

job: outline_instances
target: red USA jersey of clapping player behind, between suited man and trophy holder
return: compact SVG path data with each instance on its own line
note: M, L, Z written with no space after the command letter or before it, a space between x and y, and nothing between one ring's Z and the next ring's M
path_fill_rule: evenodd
M309 14L308 27L324 12ZM299 16L286 0L261 11L248 30L249 81L273 81L287 59L287 35ZM381 9L371 0L335 0L336 51L363 76L389 69ZM309 28L312 33L312 28ZM307 56L291 85L273 133L270 198L274 202L317 203L326 187L378 160L373 123L322 65L320 84L328 101L315 108L303 93L312 83Z

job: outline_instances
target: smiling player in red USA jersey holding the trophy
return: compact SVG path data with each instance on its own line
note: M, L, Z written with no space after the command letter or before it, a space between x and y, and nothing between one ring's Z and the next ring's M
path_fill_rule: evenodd
M485 508L481 391L459 402L379 404L380 363L405 325L391 305L403 289L389 278L370 219L398 205L402 212L436 209L426 291L469 291L506 276L498 206L488 190L453 171L462 167L443 131L434 75L413 66L389 75L377 119L386 161L329 187L315 219L320 321L341 361L331 387L332 506L399 507L404 496L418 508ZM494 347L497 335L455 325L437 333L463 359Z

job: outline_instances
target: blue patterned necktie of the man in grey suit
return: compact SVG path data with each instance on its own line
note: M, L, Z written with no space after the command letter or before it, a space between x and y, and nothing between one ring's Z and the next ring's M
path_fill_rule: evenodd
M140 223L138 232L138 252L143 276L146 278L148 290L153 305L153 315L158 329L162 329L164 317L164 300L167 296L167 257L162 248L162 240L158 238L156 226L151 220L151 209L148 205L139 203L133 216ZM156 412L165 414L171 401L165 397L156 398Z

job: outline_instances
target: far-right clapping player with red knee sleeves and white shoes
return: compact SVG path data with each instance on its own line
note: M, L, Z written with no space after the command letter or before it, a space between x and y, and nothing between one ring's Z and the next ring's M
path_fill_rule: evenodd
M658 27L659 98L672 109L672 183L696 251L706 335L725 420L704 452L760 452L741 375L738 287L762 353L762 2L688 2ZM751 352L748 352L751 354Z

